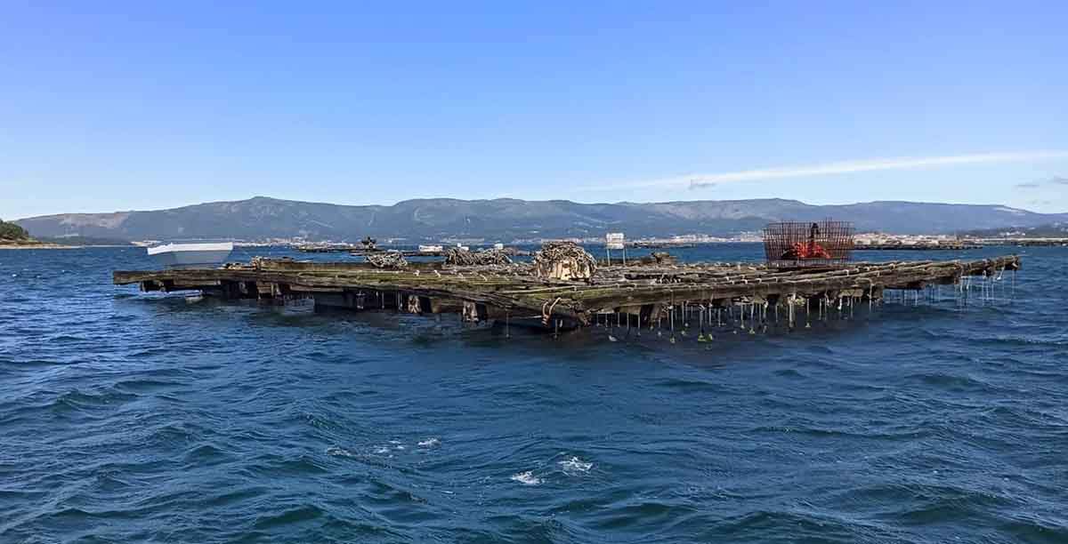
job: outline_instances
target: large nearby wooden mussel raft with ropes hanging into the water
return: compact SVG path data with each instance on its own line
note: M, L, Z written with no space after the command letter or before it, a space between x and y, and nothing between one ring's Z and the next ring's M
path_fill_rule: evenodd
M574 256L572 256L574 257ZM655 326L676 319L749 315L750 323L824 315L858 303L878 304L890 290L953 286L967 304L970 291L989 300L1009 292L1020 268L1016 255L981 260L853 262L783 269L760 263L672 263L646 260L600 266L572 258L545 262L453 266L409 262L377 268L368 262L310 262L254 258L221 269L115 271L115 285L142 291L200 291L222 299L272 303L313 300L316 308L394 309L411 314L459 314L465 321L502 320L550 331L612 321ZM549 269L563 272L557 277ZM1015 284L1014 284L1015 285ZM941 292L941 287L937 287ZM902 297L904 298L904 297ZM912 295L908 297L912 300ZM689 311L690 314L687 314ZM694 317L694 311L698 313ZM798 314L798 313L803 314ZM677 317L676 317L677 316ZM796 317L797 316L797 317Z

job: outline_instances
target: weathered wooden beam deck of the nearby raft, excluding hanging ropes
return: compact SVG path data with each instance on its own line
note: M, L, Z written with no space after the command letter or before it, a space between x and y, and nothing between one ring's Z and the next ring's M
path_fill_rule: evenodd
M952 284L968 275L1017 270L1017 256L974 261L859 262L843 267L784 270L763 265L678 265L606 267L584 282L535 277L530 267L454 267L382 270L363 263L324 263L254 259L252 266L224 269L115 271L116 285L139 284L143 290L200 289L231 298L284 297L292 293L342 295L340 305L355 306L360 291L364 307L403 307L410 297L422 311L453 311L471 304L478 315L520 313L590 323L595 313L626 311L684 301L766 300L783 298L870 297L884 289L918 289ZM400 297L398 304L394 299ZM392 299L391 299L392 298ZM351 299L351 300L350 300ZM330 299L333 301L333 299ZM377 305L376 305L377 304ZM414 306L413 306L414 307ZM639 309L634 309L639 308Z

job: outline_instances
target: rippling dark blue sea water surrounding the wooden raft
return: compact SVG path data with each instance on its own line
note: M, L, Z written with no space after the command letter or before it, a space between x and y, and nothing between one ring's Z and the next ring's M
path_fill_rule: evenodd
M673 345L0 251L0 542L1068 542L1068 249L1022 254L1011 300Z

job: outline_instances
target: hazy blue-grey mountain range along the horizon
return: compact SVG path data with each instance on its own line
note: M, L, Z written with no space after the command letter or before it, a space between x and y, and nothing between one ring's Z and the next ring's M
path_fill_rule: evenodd
M859 231L938 234L1031 227L1068 221L1068 213L1036 213L990 205L874 202L814 206L779 198L656 204L578 204L568 201L426 198L393 206L342 206L257 196L154 211L63 213L16 221L35 237L111 240L224 238L357 241L364 236L410 241L484 238L508 242L539 238L628 238L684 234L731 236L771 221L851 221Z

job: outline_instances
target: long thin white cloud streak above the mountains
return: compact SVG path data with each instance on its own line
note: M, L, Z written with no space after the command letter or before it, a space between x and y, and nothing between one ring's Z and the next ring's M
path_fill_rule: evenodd
M924 169L952 166L958 164L980 164L993 162L1027 162L1048 159L1068 158L1068 150L1038 150L1014 153L985 153L973 155L951 155L945 157L906 157L896 159L862 159L851 161L827 162L821 164L780 166L770 169L741 170L737 172L721 172L716 174L689 174L685 176L649 179L637 182L621 182L592 187L588 189L649 188L649 187L689 187L703 189L719 183L739 181L756 181L763 179L784 179L792 177L826 176L837 174L854 174L861 172L877 172L885 170ZM1068 185L1068 179L1059 178L1061 183Z

